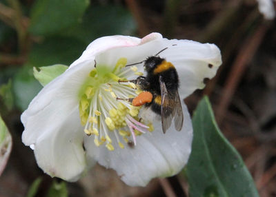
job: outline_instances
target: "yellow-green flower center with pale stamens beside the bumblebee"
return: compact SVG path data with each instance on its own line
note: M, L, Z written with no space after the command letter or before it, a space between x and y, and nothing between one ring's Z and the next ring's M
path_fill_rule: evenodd
M141 92L135 83L128 81L137 72L137 67L126 68L127 60L121 58L112 70L105 65L97 65L93 69L79 92L79 116L84 132L94 136L94 143L98 147L105 144L112 151L112 139L116 139L119 147L124 143L134 143L136 136L152 132L152 123L145 125L139 118L141 107L132 106L127 98L133 98ZM128 81L119 83L118 81ZM124 98L124 99L117 99ZM132 138L132 141L131 139ZM121 143L123 139L124 143Z

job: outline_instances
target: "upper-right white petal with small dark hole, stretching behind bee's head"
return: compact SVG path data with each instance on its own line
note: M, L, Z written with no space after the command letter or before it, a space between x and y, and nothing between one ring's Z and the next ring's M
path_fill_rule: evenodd
M167 48L166 50L164 50ZM97 63L113 65L122 57L128 59L127 64L139 63L164 50L161 58L172 62L179 74L181 98L192 94L197 89L204 88L204 79L215 76L221 65L219 48L214 44L202 44L187 40L168 40L158 37L142 45L110 49L96 57ZM208 65L212 65L209 68ZM144 72L143 63L137 65L139 72ZM132 76L133 78L137 76Z

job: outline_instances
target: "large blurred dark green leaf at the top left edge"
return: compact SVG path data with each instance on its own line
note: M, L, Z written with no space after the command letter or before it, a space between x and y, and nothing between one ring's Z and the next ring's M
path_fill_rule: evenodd
M46 36L81 21L88 0L37 0L30 14L30 32Z

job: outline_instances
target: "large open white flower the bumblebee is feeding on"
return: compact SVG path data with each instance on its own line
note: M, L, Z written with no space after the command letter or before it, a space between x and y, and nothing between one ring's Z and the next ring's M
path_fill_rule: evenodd
M22 141L34 147L39 167L50 176L74 181L98 162L132 186L177 174L188 161L193 139L186 105L182 103L181 131L171 126L163 134L158 120L136 121L143 108L116 99L138 93L134 84L118 79L144 74L142 63L124 65L144 61L164 48L168 49L159 56L175 65L181 100L203 88L204 79L215 76L221 64L216 45L168 40L158 33L143 39L112 36L93 41L66 72L43 87L21 116ZM141 132L130 132L135 127Z

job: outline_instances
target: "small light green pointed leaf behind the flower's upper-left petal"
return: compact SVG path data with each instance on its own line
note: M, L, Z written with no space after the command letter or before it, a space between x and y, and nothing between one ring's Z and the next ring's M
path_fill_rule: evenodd
M50 66L43 66L39 68L34 67L34 78L43 86L50 83L57 76L63 74L68 69L67 65L56 64Z

